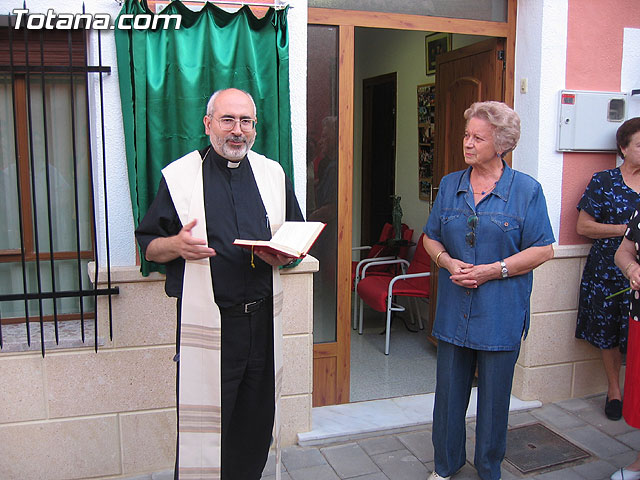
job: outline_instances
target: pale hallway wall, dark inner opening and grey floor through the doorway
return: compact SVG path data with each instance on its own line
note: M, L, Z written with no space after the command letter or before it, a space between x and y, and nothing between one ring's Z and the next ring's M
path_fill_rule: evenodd
M402 222L414 231L417 242L428 216L428 201L420 199L418 181L418 93L417 86L434 81L426 75L424 65L425 37L432 32L396 29L355 29L354 42L354 245L371 245L380 235L382 224L391 221L388 193L381 187L367 198L370 172L380 170L390 182L390 192L398 195L402 207ZM421 62L416 61L421 59ZM375 112L373 119L371 91L393 82L393 102ZM382 95L380 95L382 96ZM369 122L384 123L384 134L371 138ZM389 120L393 124L389 124ZM380 145L389 135L388 147ZM382 139L382 140L381 140ZM391 151L389 152L389 148ZM377 157L374 157L376 152ZM370 158L374 159L371 164ZM395 161L387 170L385 161ZM358 184L360 186L358 187ZM358 195L362 192L361 195ZM377 197L377 198L375 198ZM384 198L383 198L384 197ZM376 205L376 200L378 205ZM369 210L376 210L379 222L367 225ZM360 218L359 218L360 215ZM359 221L360 220L360 221ZM360 229L358 227L360 226ZM369 228L369 230L367 230ZM359 243L358 243L359 242ZM355 257L354 257L355 259ZM354 296L354 301L357 300ZM409 302L400 301L404 306ZM418 300L417 310L423 323L428 320L428 303ZM384 354L385 314L369 307L363 311L363 333L351 330L350 401L391 398L430 393L435 390L435 354L426 330L411 323L408 312L394 313L390 332L390 354Z

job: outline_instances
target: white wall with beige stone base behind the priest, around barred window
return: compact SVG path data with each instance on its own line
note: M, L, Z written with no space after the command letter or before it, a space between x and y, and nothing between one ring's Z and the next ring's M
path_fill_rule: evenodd
M296 0L288 15L294 182L301 205L306 192L306 25L307 2ZM114 0L85 0L86 13L108 13ZM6 11L23 8L8 0ZM77 13L81 0L27 1L32 13ZM89 63L98 64L98 35L89 35ZM106 300L100 300L99 328L104 343L39 352L0 352L0 478L40 480L127 477L173 468L175 454L175 301L164 294L164 279L142 278L136 263L133 216L127 178L114 35L103 31L106 176L113 297L114 339L109 341ZM90 74L91 147L96 203L104 205L99 82ZM103 207L96 214L104 238ZM106 248L97 245L100 265ZM313 371L313 292L315 259L286 271L283 444L311 428ZM292 361L295 359L295 361Z

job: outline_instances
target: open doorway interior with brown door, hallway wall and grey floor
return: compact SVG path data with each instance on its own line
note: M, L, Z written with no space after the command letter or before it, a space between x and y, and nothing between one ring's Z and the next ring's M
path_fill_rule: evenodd
M366 186L370 183L368 177L371 165L368 156L372 150L384 152L382 158L376 159L374 169L383 170L384 175L393 181L393 193L401 197L403 223L414 231L413 242L418 242L422 229L427 221L430 203L421 195L419 184L419 100L418 87L432 85L436 91L436 105L447 105L443 111L435 112L435 135L440 135L440 145L445 145L443 151L448 152L446 159L440 161L434 169L437 175L434 185L437 187L443 173L466 168L463 159L458 155L461 149L459 139L462 138L464 118L462 113L470 103L484 99L502 99L502 63L498 60L497 51L503 48L502 40L478 35L453 34L450 38L451 50L438 57L438 77L426 75L424 63L414 60L424 52L425 38L433 32L407 32L402 30L356 28L355 30L355 79L354 103L362 97L361 115L356 110L354 122L354 137L357 139L361 132L362 144L354 146L354 177L360 177L362 192L360 198L360 212L362 230L360 238L362 244L371 245L375 242L374 229L365 230L365 217L368 209L376 207L373 199L365 196ZM446 62L443 60L446 58ZM383 72L393 71L392 74ZM377 75L376 74L381 74ZM459 77L463 76L460 81ZM385 151L385 145L370 138L368 125L372 115L371 84L384 85L394 80L397 85L396 110L393 115L394 125L384 124L385 133L395 132L393 152ZM467 87L467 83L474 88ZM359 85L362 85L359 88ZM482 88L478 87L481 86ZM469 91L467 91L469 90ZM438 95L439 92L439 95ZM453 92L453 93L451 93ZM384 97L383 97L384 98ZM446 100L446 101L445 101ZM381 102L384 103L384 102ZM385 113L386 112L386 113ZM373 121L382 124L381 118L391 117L390 108L378 110ZM445 114L445 113L450 113ZM394 112L395 113L395 112ZM386 115L386 117L385 117ZM382 141L385 136L378 134ZM388 135L387 135L388 136ZM359 152L360 150L360 152ZM437 149L436 149L437 150ZM442 150L442 149L441 149ZM385 171L384 161L395 154L395 171ZM358 162L358 159L361 159ZM375 157L373 157L375 158ZM455 159L456 162L450 161ZM435 159L434 159L435 160ZM459 160L459 161L458 161ZM358 167L360 163L360 168ZM360 175L358 173L360 172ZM435 173L435 172L434 172ZM357 182L357 180L356 180ZM354 226L358 225L357 201L358 189L354 188ZM373 196L382 195L382 188L373 190ZM380 208L382 211L382 209ZM390 215L382 218L390 221ZM378 233L380 227L378 227ZM354 237L357 238L357 228ZM368 236L367 236L368 235ZM432 289L433 291L433 289ZM355 297L354 297L355 299ZM409 302L401 302L408 306ZM390 355L384 355L385 314L372 309L364 309L364 331L358 335L352 330L351 335L351 380L350 400L372 400L402 395L416 395L431 393L435 390L435 357L436 347L429 338L435 313L434 302L419 302L418 310L426 328L418 329L411 324L408 312L394 314L390 337ZM431 307L431 308L430 308Z

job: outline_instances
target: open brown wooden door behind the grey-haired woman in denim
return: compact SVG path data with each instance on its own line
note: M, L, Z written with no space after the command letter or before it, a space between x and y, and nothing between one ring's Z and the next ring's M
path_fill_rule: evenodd
M464 111L473 102L504 101L505 61L502 38L491 38L437 57L433 185L439 185L446 174L467 168L462 151ZM429 330L436 314L437 270L432 262Z

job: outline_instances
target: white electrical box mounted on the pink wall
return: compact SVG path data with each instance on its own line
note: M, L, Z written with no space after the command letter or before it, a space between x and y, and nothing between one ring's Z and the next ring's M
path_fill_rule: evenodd
M562 90L557 149L615 152L616 131L626 116L626 93Z

